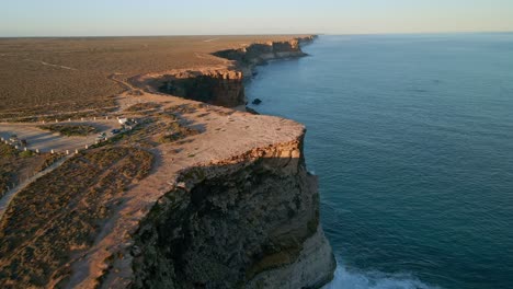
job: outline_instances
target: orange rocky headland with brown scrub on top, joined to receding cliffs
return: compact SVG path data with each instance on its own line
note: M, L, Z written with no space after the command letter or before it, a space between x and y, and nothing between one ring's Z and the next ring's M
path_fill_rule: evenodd
M157 108L133 113L137 129L18 193L0 220L0 286L320 288L331 280L335 262L305 165L305 127L217 106L243 105L242 80L254 66L304 56L300 44L311 39L244 45L214 53L228 59L223 66L128 78L123 84L140 93L118 105ZM55 193L42 197L42 187Z

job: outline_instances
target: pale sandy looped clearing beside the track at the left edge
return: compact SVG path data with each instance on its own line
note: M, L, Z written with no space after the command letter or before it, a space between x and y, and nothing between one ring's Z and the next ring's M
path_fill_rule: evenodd
M55 124L55 123L47 123ZM119 123L116 119L102 119L96 122L64 122L59 124L87 124L95 126L100 132L110 132L114 128L119 128ZM0 124L0 137L9 139L11 135L18 135L19 139L25 139L27 142L27 149L36 150L41 152L47 152L55 150L64 152L69 150L81 150L86 148L86 144L91 146L96 141L96 135L90 135L87 137L65 137L59 134L53 134L47 130L37 128L42 124L34 123L2 123Z

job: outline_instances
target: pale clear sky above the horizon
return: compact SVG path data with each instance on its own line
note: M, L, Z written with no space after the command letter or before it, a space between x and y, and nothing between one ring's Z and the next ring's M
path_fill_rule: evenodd
M15 0L0 36L513 31L513 0Z

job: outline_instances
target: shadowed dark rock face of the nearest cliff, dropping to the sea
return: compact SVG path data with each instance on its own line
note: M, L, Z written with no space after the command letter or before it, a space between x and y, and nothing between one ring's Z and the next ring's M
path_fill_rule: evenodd
M135 236L134 288L317 288L334 259L303 140L183 172Z

